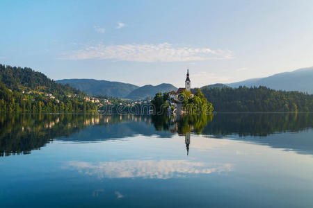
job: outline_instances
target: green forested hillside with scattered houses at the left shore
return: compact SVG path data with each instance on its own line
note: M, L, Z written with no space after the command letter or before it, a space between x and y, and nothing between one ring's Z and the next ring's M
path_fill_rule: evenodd
M0 111L2 112L95 112L85 93L61 85L29 68L0 64Z

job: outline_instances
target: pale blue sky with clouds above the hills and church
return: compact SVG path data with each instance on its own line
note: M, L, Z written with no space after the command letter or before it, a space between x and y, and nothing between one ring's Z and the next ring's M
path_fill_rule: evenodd
M313 66L313 1L0 1L0 63L55 80L232 83Z

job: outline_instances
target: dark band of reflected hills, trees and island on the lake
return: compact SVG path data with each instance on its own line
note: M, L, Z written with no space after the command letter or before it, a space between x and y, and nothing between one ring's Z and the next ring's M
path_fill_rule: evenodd
M29 154L54 139L62 141L104 141L157 135L185 137L188 151L191 136L250 139L259 144L290 148L312 154L310 137L274 138L278 133L309 132L310 113L238 113L170 116L93 115L93 114L2 114L0 119L0 156ZM272 137L269 137L273 135ZM290 134L289 134L290 135Z

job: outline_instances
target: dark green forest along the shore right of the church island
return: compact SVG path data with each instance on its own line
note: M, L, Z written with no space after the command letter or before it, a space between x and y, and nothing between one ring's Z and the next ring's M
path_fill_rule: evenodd
M195 92L196 89L193 89ZM267 87L202 87L216 112L312 112L313 95Z

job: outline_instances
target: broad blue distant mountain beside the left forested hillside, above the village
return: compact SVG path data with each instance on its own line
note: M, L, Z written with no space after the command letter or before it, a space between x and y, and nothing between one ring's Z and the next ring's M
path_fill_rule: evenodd
M107 95L117 98L126 98L129 93L138 88L136 85L93 79L64 79L56 80L56 83L69 84L92 95Z

